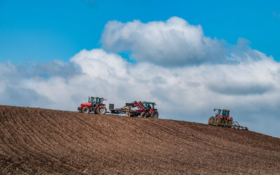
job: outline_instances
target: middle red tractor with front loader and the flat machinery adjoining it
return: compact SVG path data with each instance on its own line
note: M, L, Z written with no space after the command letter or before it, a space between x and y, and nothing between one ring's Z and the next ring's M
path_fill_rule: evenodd
M123 108L114 109L114 104L109 104L111 113L125 113L127 117L138 117L141 118L158 118L158 109L155 109L155 102L137 102L126 103ZM134 108L136 108L134 110Z

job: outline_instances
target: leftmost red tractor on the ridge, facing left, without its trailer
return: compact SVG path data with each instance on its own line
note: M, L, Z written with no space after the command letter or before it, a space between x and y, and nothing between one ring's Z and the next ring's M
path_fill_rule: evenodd
M80 104L78 111L80 113L97 113L105 114L107 109L106 104L103 101L106 100L103 97L88 97L88 102Z

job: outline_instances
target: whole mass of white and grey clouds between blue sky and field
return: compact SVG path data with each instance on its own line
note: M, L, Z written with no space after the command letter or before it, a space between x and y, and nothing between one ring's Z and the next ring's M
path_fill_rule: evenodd
M280 122L280 64L272 57L251 49L245 39L240 38L225 55L219 41L207 38L200 26L191 26L181 18L147 24L139 21L113 23L116 24L107 24L102 38L104 47L111 52L103 48L81 50L70 62L0 63L0 104L75 111L88 95L92 95L105 97L108 99L107 105L114 103L117 107L134 100L153 101L158 104L160 118L200 123L207 123L214 108L225 108L231 110L235 120L251 130L274 136L279 133L280 130L276 128ZM118 29L116 25L120 25ZM131 27L126 29L130 25L137 25L133 29L136 31ZM113 29L108 29L112 26ZM184 41L176 36L180 34L178 28ZM105 41L106 30L113 36L111 43ZM193 33L189 30L193 30ZM114 32L124 33L119 37ZM139 33L132 34L134 32ZM159 41L156 43L155 38L151 38L151 41L155 40L149 46L151 50L139 41L148 41L150 33L155 33L152 36L158 37ZM126 34L127 39L124 39ZM168 35L174 37L169 40L165 38ZM130 41L129 36L134 39ZM200 37L197 39L193 36ZM189 55L193 54L195 58L176 55L173 48L165 52L165 48L169 47L162 48L163 39L165 45L197 43L189 45L190 50L186 51L192 52ZM205 39L211 44L206 44ZM178 43L176 40L179 40ZM220 61L214 57L216 54L204 57L204 53L197 51L209 52L209 45L216 43L222 55L218 58ZM164 52L160 57L155 54L154 59L148 59L145 54L153 55L153 48ZM140 52L142 49L148 53L143 55ZM138 62L128 62L121 57L118 52L122 50L131 50ZM196 58L199 61L195 64L191 60ZM160 60L166 63L160 64ZM174 64L169 66L167 63L171 60Z

